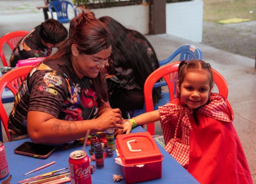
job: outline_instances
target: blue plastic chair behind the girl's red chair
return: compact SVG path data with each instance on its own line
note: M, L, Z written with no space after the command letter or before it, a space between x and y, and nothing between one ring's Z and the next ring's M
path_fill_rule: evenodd
M180 54L180 59L179 61L182 61L182 60L187 60L187 61L191 61L191 60L195 60L195 59L199 59L199 60L202 60L203 58L203 55L202 55L202 52L201 50L196 47L195 45L191 45L191 44L184 44L184 45L181 45L172 55L170 55L168 58L164 59L164 60L161 60L159 61L159 65L160 66L163 66L169 62L171 62L176 56L178 56ZM175 83L176 83L176 78L174 79L175 80ZM163 81L163 82L157 82L154 84L154 88L156 87L162 87L162 86L166 86L166 82ZM176 85L174 86L174 95L176 96ZM158 109L158 106L162 106L162 105L165 105L167 102L169 102L170 99L168 97L168 94L167 93L163 93L162 92L162 99L160 99L160 101L155 105L154 109ZM136 109L136 110L133 110L132 114L130 114L131 118L132 117L136 117L138 116L139 114L142 114L146 112L146 109L145 109L145 104L144 104L144 107L143 109Z

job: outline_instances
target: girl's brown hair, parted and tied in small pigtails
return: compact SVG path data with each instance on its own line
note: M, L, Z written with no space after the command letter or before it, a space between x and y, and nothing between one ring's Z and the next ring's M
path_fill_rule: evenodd
M187 72L198 72L198 73L201 72L202 73L205 71L207 71L209 74L209 79L210 79L209 86L211 87L212 84L214 83L214 77L212 75L212 70L211 70L211 66L209 63L206 63L201 60L181 61L180 65L179 65L179 69L178 69L178 80L179 80L178 86L179 86L179 88L181 88L181 84L184 81L184 78L185 78L185 75ZM178 93L177 95L178 95L177 97L180 99L180 93ZM196 117L196 113L199 108L195 109L193 112L197 125L199 125L199 121Z

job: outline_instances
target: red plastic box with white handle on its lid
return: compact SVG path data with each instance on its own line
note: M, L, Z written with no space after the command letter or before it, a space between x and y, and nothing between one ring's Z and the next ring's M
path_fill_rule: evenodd
M116 163L120 165L126 183L162 177L163 155L150 133L117 135L116 152Z

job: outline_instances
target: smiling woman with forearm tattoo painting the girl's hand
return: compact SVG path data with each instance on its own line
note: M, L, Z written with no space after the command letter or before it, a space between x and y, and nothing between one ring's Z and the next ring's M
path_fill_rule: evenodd
M8 120L10 140L59 144L120 125L111 109L103 71L111 54L109 30L80 6L69 38L55 54L35 66L15 96Z

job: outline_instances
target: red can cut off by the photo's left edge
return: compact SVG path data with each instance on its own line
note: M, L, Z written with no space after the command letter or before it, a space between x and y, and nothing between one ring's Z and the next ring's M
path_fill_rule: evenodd
M5 146L0 141L0 179L6 177L9 174L9 167L7 163L7 157L5 152Z

